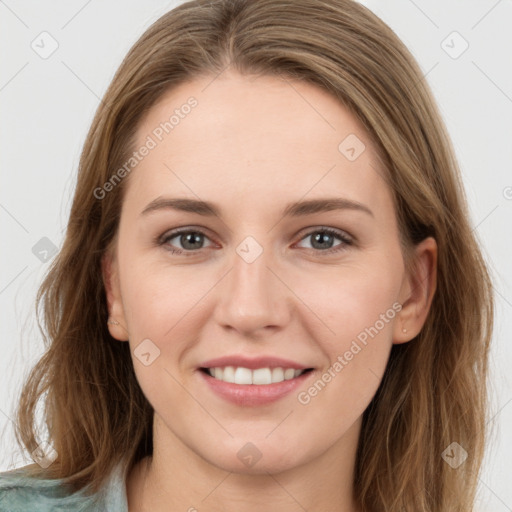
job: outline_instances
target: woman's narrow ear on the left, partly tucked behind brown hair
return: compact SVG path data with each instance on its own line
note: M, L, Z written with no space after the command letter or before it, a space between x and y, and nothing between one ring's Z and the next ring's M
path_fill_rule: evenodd
M121 287L119 285L119 268L115 253L110 248L105 251L101 258L101 271L107 297L109 320L118 322L118 324L107 324L108 330L116 340L128 341L128 330L126 329Z

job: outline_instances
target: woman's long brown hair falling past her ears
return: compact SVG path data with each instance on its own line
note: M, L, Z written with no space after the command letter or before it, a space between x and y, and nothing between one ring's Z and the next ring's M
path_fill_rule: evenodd
M16 437L37 447L36 405L57 459L34 476L97 490L118 462L152 453L153 410L127 343L107 329L101 258L115 240L142 116L173 87L228 66L331 93L366 127L387 171L408 268L438 245L437 289L422 331L393 345L364 413L355 492L365 511L473 510L486 437L494 300L447 131L422 71L394 32L350 0L194 0L157 20L107 90L85 142L65 240L38 292L47 350L21 392ZM457 442L457 469L442 457Z

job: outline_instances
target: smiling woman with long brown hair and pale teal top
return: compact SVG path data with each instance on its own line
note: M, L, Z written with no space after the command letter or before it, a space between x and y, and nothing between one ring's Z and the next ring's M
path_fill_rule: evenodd
M86 140L0 510L473 510L491 288L389 27L182 4Z

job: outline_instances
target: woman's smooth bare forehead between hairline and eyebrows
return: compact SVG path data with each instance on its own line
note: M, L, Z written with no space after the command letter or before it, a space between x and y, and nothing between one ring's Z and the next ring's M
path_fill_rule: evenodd
M127 201L179 192L212 201L243 194L260 209L306 194L391 202L362 123L305 82L225 72L182 83L141 121L136 149L145 144Z

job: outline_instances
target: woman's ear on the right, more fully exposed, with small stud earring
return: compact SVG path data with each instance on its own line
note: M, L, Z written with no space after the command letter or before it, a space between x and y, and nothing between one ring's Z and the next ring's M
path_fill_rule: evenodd
M404 277L400 290L402 309L394 326L393 343L412 340L423 328L437 283L437 243L425 238L415 249L413 270ZM407 329L407 332L403 332Z

